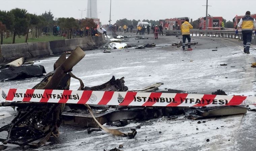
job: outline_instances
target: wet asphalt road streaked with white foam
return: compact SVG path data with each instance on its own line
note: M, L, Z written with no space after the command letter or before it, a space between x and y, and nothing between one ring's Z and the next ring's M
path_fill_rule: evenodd
M192 51L182 51L181 48L171 46L171 43L179 43L181 36L160 36L155 40L151 34L145 35L149 39L135 40L134 34L125 35L130 39L125 42L127 44L155 43L157 47L115 49L111 50L111 53L103 53L102 50L86 51L85 58L73 68L73 73L89 87L102 84L115 75L116 78L125 77L125 85L129 89L162 82L164 85L160 90L170 88L209 94L222 89L230 95L255 95L255 68L251 68L250 63L255 62L256 53L251 51L249 55L244 54L242 43L237 40L192 37L191 43L198 42L200 45L192 46ZM217 51L212 51L216 47ZM49 72L57 59L57 56L39 59L40 62L36 64L44 65L46 72ZM220 66L223 63L227 66ZM41 79L3 82L1 88L31 88ZM72 79L70 89L78 88L79 82ZM12 108L0 108L1 112L8 112L12 116L2 118L0 127L16 114ZM183 116L174 121L159 118L130 123L120 129L129 132L129 128L143 125L134 140L111 136L103 131L88 135L83 127L62 125L60 138L51 139L50 145L38 149L17 148L12 145L8 147L10 150L103 150L124 144L123 150L252 150L252 141L255 139L254 115L255 112L248 112L245 116L209 119L207 122L211 123L212 127L209 125L210 128L205 128L200 136L198 132L189 130L197 127L197 121L185 119ZM216 127L221 127L221 124L228 126L216 132ZM179 128L183 127L181 125L185 130ZM163 136L159 136L159 129ZM0 137L4 135L0 133ZM195 137L198 138L192 139ZM211 144L204 143L206 137L211 138ZM226 138L231 141L223 142ZM179 142L179 145L175 142Z

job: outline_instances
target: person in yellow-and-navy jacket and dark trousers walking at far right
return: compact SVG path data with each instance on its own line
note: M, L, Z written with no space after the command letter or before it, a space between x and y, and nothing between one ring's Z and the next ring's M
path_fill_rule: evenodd
M242 26L242 36L244 43L244 53L250 53L250 46L252 41L252 31L253 28L256 30L256 21L253 17L250 16L251 12L247 11L245 16L240 19L235 34L238 35L238 29ZM255 31L256 34L256 31Z

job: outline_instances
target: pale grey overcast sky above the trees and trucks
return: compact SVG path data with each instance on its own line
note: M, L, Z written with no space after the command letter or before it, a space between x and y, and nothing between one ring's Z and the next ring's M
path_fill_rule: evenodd
M102 24L109 20L110 0L97 0L98 18ZM206 0L112 0L111 23L117 19L159 20L174 17L189 17L193 20L205 16ZM231 20L235 15L245 15L247 10L256 13L256 0L208 0L208 13ZM81 18L81 11L87 9L87 0L0 0L0 10L24 8L37 15L44 11L54 17ZM83 17L86 11L83 12ZM114 22L113 22L114 21Z

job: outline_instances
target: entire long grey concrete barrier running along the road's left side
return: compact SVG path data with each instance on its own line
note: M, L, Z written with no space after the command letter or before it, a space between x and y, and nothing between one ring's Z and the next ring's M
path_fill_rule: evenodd
M0 62L13 61L24 57L45 57L51 54L60 54L65 51L73 51L80 47L85 50L92 50L106 44L104 36L85 37L50 42L22 43L0 45Z

